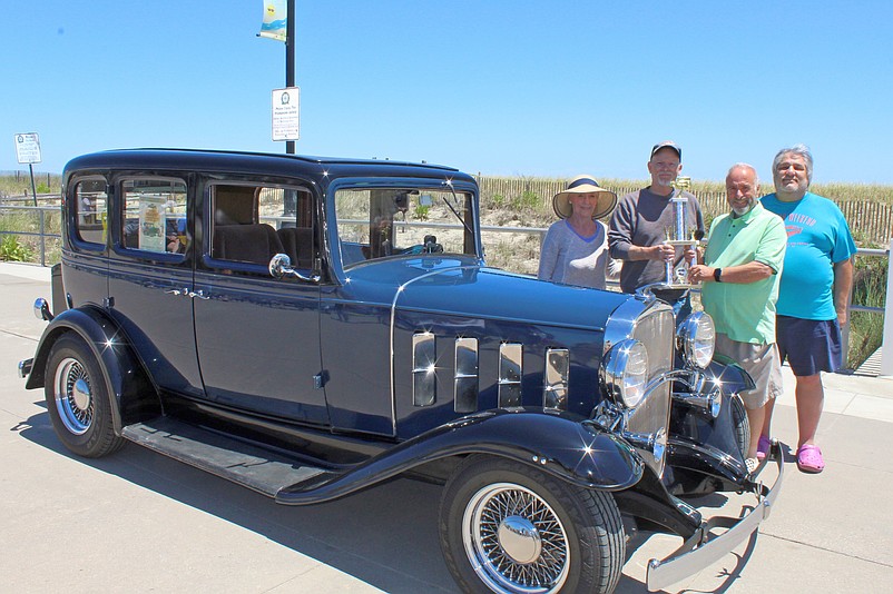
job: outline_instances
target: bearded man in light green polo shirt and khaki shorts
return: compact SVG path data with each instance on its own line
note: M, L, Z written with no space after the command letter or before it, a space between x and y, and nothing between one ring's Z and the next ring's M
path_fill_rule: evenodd
M747 468L757 465L766 403L782 393L782 364L775 346L775 301L785 257L784 221L759 202L756 169L732 166L726 176L732 211L714 219L704 264L689 270L703 283L704 310L716 325L716 353L738 362L756 388L742 393L750 424Z

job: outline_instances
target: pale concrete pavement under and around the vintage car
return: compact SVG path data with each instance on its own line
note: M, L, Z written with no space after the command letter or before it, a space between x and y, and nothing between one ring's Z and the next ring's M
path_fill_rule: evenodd
M7 592L457 592L436 535L441 488L398 479L345 499L284 507L139 446L98 461L52 433L42 390L16 364L33 354L46 268L0 264L0 583ZM668 592L880 592L893 578L893 380L826 374L820 475L785 467L758 536ZM796 443L793 376L776 437ZM767 476L767 481L774 477ZM706 511L743 497L714 495ZM750 502L752 503L752 502ZM637 539L638 542L639 539ZM654 535L619 593L645 592Z

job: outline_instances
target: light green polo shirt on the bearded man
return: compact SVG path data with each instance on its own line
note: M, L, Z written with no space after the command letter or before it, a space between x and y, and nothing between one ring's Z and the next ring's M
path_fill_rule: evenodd
M727 268L758 261L775 271L756 283L704 284L701 303L713 317L717 333L739 343L768 345L775 341L775 303L786 245L782 217L759 202L743 217L722 215L713 221L704 264Z

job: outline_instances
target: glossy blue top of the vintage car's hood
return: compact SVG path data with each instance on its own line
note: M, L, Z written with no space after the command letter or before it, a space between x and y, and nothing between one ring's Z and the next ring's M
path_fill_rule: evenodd
M351 293L398 309L477 318L603 328L632 299L621 293L573 287L488 268L468 258L422 256L379 260L346 275Z

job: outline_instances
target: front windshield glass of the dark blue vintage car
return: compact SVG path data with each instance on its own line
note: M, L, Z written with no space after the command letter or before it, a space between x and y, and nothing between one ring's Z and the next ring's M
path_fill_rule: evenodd
M376 258L477 254L467 192L342 189L335 192L335 218L345 268Z

